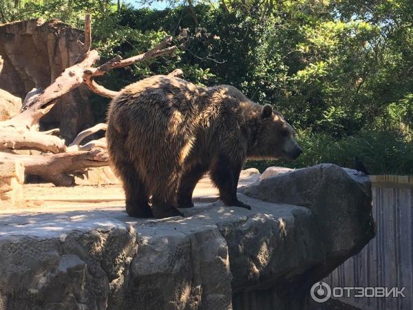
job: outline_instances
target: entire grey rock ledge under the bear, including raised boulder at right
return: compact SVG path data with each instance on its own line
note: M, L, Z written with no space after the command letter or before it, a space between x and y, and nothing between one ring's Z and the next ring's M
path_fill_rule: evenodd
M251 211L198 197L187 218L2 215L0 309L304 309L374 236L370 192L334 165L246 176L267 200L240 194Z

